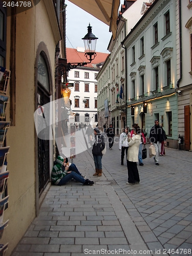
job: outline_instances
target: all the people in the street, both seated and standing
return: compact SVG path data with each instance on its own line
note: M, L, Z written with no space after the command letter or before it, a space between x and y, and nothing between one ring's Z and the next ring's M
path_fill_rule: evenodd
M112 124L104 132L109 138L109 148L112 150L114 144L115 130ZM121 150L121 165L123 165L124 155L126 154L126 163L128 170L128 181L126 184L136 184L140 182L139 172L137 167L137 162L139 160L139 165L143 166L142 159L142 145L146 144L143 129L141 129L138 124L134 123L132 125L132 131L129 132L129 127L125 127L124 131L119 136L119 150ZM95 173L93 176L102 176L102 156L103 150L105 148L105 138L100 133L98 127L94 129L94 136L90 135L89 138L92 141L92 154L95 164ZM150 131L150 142L155 146L156 155L154 156L155 164L159 165L159 156L165 155L162 152L162 146L164 150L164 144L166 143L166 134L163 127L159 124L159 120L155 120L155 125ZM93 185L94 182L83 177L75 164L67 163L68 160L62 156L58 156L52 169L52 182L55 185L61 186L65 185L68 181L74 179L83 185Z

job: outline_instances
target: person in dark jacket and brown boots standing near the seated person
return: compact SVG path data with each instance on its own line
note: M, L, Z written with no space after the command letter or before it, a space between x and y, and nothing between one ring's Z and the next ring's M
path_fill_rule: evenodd
M100 134L99 129L94 129L94 144L92 148L93 159L95 163L95 173L93 176L102 176L102 151L105 148L104 136Z

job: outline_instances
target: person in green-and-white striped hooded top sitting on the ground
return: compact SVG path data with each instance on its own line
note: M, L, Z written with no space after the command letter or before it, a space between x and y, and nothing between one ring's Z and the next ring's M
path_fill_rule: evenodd
M53 184L57 186L65 185L68 181L74 179L83 185L89 185L92 186L94 184L93 181L90 181L88 179L84 179L79 174L73 172L72 170L69 171L69 167L66 166L65 170L62 171L62 165L63 165L64 158L61 156L58 156L56 159L56 163L53 166L52 174L51 174L51 180Z

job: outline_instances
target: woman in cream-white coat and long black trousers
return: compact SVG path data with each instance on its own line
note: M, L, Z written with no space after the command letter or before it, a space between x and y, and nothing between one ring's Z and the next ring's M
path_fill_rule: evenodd
M128 182L126 184L139 183L139 172L137 168L139 146L141 143L140 128L138 125L133 127L133 137L128 134L129 151L127 157Z

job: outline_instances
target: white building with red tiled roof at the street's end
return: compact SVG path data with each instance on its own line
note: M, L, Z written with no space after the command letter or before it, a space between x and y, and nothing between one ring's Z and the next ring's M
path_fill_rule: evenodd
M67 48L66 51L68 62L88 61L82 48ZM74 113L74 119L71 118L71 122L78 126L80 124L84 127L91 123L95 127L98 123L96 77L106 57L108 57L107 53L97 52L97 56L91 63L68 72L68 82L74 84L70 96L71 109Z

